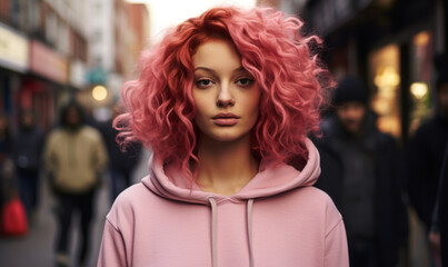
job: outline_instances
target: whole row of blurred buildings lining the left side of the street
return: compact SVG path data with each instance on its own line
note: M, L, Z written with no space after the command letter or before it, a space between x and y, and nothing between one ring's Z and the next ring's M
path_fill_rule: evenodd
M145 6L125 0L0 0L0 112L52 127L71 97L94 108L100 83L119 96L148 36Z

